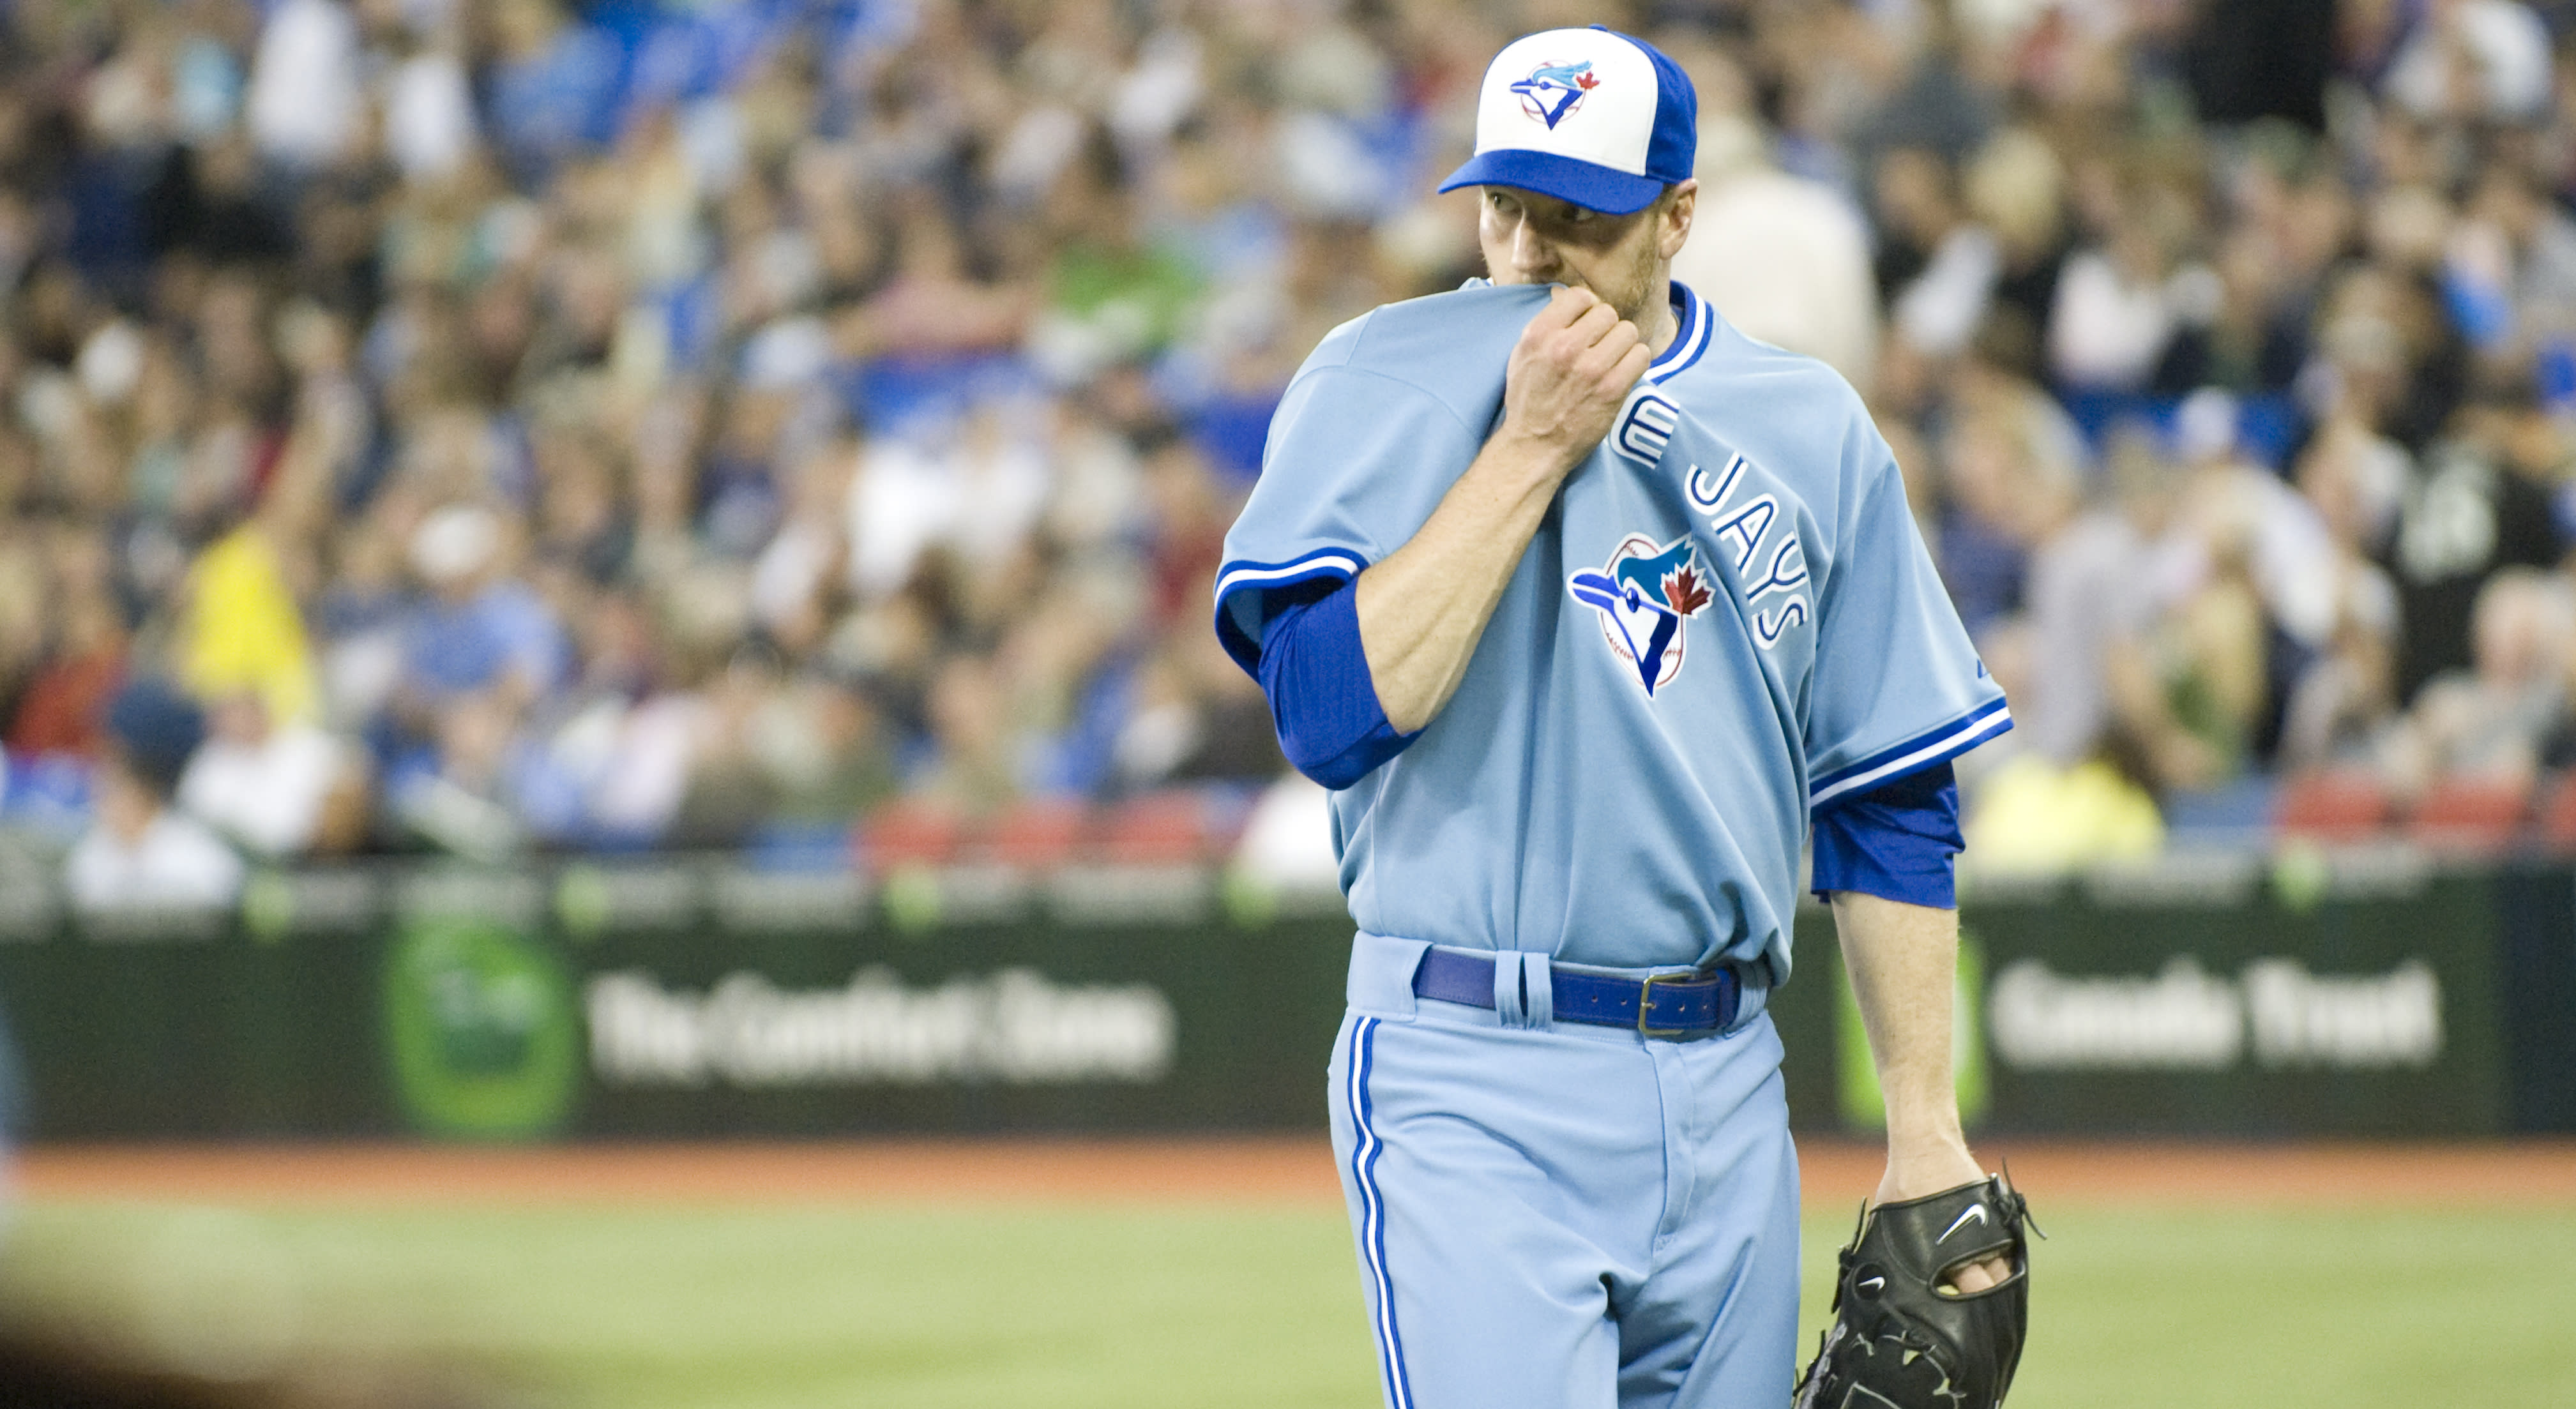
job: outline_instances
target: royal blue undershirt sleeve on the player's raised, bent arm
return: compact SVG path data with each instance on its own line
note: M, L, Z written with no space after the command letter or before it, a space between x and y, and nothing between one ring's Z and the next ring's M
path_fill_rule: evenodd
M1262 626L1262 693L1280 752L1327 788L1347 788L1422 737L1396 734L1360 652L1360 595L1345 582Z

